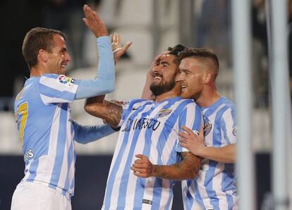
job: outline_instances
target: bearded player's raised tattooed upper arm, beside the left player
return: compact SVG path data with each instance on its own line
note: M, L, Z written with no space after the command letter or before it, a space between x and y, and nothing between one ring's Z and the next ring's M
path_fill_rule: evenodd
M116 126L121 121L122 106L114 101L104 100L104 97L105 95L86 99L84 109L90 115Z

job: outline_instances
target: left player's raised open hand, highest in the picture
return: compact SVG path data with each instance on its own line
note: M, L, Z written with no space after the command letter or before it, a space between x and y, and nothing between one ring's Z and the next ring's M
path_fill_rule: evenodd
M83 11L85 15L83 21L96 37L107 36L109 34L107 32L107 25L102 22L102 19L99 18L97 12L93 11L90 6L87 6L87 4L83 6Z

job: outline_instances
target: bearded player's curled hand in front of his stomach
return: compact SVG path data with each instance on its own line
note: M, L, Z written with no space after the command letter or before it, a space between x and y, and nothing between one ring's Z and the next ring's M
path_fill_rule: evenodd
M136 154L135 157L138 159L136 159L133 165L130 167L134 175L142 178L148 178L150 176L153 176L154 167L150 160L147 158L147 156L142 154Z

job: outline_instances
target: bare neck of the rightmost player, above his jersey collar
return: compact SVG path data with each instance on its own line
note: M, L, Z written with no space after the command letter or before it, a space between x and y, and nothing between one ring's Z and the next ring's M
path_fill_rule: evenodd
M216 88L204 89L196 103L201 107L212 106L221 97Z

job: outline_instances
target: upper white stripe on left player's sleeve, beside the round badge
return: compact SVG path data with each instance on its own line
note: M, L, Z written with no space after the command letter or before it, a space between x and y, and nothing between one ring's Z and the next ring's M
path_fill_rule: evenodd
M78 85L75 85L72 82L68 82L67 84L62 84L61 82L58 82L58 79L47 78L46 76L42 76L39 79L39 83L42 85L46 85L47 87L51 87L53 89L59 90L59 91L67 91L73 94L76 93L77 88L78 88Z

